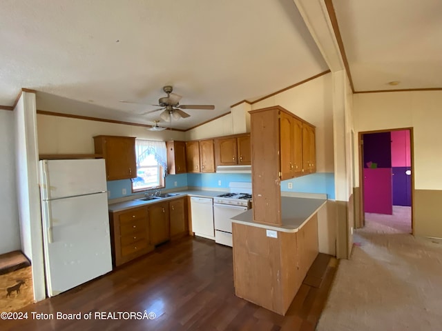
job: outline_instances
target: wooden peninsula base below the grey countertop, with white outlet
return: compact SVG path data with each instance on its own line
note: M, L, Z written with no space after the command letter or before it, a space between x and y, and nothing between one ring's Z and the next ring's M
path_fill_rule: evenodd
M238 297L285 315L318 255L316 214L298 232L238 223L233 228L233 281Z

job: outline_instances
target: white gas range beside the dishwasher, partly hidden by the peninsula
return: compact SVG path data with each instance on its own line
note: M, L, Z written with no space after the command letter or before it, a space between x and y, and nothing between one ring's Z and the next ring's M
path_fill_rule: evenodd
M215 223L215 242L233 246L232 221L250 208L251 183L229 183L230 193L213 198L213 218Z

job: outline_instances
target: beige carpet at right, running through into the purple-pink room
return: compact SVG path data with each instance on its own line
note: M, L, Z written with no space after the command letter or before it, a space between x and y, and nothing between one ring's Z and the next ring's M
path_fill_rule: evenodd
M442 330L442 244L407 234L403 217L366 214L316 330Z

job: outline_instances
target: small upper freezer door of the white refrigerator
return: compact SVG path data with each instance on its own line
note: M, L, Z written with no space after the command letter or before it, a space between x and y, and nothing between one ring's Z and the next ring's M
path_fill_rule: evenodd
M40 161L40 185L43 200L104 192L107 190L105 161Z

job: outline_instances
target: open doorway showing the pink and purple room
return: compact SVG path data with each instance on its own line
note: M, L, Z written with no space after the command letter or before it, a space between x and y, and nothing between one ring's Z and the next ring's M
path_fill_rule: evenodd
M359 132L361 219L412 233L412 128Z

